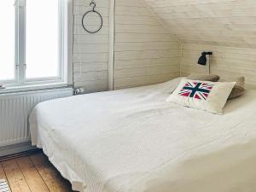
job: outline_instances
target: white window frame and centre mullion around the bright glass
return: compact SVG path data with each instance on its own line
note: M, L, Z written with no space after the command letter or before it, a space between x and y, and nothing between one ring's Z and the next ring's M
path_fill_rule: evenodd
M70 57L73 53L73 40L68 38L71 27L73 31L73 13L70 11L70 0L59 0L59 74L57 77L26 79L26 0L15 0L15 79L1 81L7 88L25 87L44 84L71 83L69 72L72 65ZM71 55L72 54L72 55ZM73 58L72 58L73 60ZM73 72L72 72L73 73Z

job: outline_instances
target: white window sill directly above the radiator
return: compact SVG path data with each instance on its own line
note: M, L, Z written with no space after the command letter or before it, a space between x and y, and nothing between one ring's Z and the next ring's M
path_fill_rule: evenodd
M6 93L26 92L33 90L51 90L61 88L72 88L71 84L55 83L55 84L30 84L23 86L14 86L0 89L0 95Z

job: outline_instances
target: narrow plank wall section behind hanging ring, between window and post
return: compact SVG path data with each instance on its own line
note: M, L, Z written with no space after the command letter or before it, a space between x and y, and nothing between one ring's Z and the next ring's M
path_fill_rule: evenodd
M96 0L96 10L103 17L102 30L96 34L85 32L81 25L82 16L91 9L89 4L90 0L73 1L73 79L75 87L95 92L108 90L109 0ZM95 20L96 18L89 20L91 26Z

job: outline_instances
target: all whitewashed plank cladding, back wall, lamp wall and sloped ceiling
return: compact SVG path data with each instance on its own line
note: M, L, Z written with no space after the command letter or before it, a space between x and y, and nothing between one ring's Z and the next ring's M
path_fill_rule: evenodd
M74 1L74 80L92 92L108 90L109 0L96 1L104 26L95 35L80 26L89 3ZM159 83L178 76L180 67L182 74L207 73L196 65L203 50L214 52L212 73L244 75L256 85L255 9L254 0L116 0L114 88Z

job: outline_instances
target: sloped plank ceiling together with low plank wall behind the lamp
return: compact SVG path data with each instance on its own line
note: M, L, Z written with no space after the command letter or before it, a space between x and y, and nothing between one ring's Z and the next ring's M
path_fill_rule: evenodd
M256 85L255 0L143 0L169 32L182 42L181 72L207 73L196 65L212 50L212 73L245 76Z

